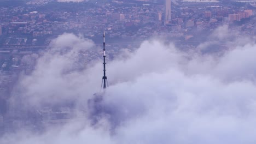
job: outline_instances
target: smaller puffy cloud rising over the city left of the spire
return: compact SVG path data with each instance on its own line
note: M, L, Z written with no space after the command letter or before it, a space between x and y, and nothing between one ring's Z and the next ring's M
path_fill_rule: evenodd
M86 70L80 70L85 68L85 63L79 59L82 57L81 53L95 47L91 40L73 34L63 34L54 39L50 47L50 51L39 58L33 73L21 77L18 92L26 99L26 103L56 104L80 97L88 99L87 95L92 95L99 89L97 86L101 80L93 81L97 74L88 75ZM88 81L91 87L87 84Z

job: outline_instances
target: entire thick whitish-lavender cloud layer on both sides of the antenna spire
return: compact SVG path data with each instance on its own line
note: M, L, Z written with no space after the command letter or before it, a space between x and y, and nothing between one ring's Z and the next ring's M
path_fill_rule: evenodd
M229 33L228 27L222 28ZM229 37L218 35L219 29L211 37ZM0 142L254 143L256 44L231 41L239 45L221 56L179 51L159 40L144 41L135 52L107 64L110 87L103 103L112 109L111 115L94 126L77 119L43 134L6 135ZM82 47L94 47L91 41L64 34L52 44L53 51L39 59L32 75L21 79L29 103L38 105L49 98L52 104L86 100L98 92L101 62L86 70L71 66ZM63 52L63 47L68 51ZM110 131L113 119L118 125Z

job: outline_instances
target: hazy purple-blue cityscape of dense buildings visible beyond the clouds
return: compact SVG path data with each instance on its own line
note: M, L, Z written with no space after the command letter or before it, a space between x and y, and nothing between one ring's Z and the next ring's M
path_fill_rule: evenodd
M166 8L168 2L171 7ZM89 63L102 58L103 31L107 60L124 49L136 50L141 41L150 38L163 38L182 50L196 49L213 29L223 25L239 31L236 38L254 38L255 10L253 1L1 1L0 135L24 126L43 129L74 117L72 106L25 111L13 108L11 101L20 74L32 73L38 58L51 49L51 40L58 35L74 33L94 41L97 48L79 56L80 62ZM219 43L214 49L228 48Z

